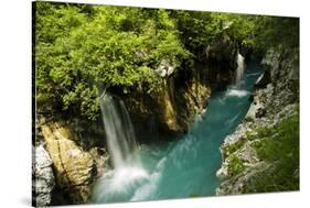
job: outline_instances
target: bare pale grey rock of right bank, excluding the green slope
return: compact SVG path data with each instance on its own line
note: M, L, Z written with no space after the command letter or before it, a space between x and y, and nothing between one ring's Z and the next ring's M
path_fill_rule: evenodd
M258 128L272 128L297 113L296 109L299 106L298 54L297 50L290 52L269 50L264 57L261 64L265 66L265 75L257 81L257 90L245 120L233 134L226 136L221 146L223 163L216 175L222 179L222 184L216 189L216 195L255 190L253 182L260 177L264 180L264 176L272 173L275 164L261 161L257 156L252 145L256 140L250 138L257 134L255 130ZM235 168L229 168L232 166Z

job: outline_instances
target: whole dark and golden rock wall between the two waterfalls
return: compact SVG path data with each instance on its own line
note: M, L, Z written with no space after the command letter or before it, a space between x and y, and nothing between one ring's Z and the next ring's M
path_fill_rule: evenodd
M163 59L154 69L159 77L156 92L149 95L140 86L130 96L122 95L133 125L139 127L135 128L138 139L150 141L186 132L195 114L206 108L211 88L223 89L232 83L236 52L236 45L226 36L206 46L188 68Z

